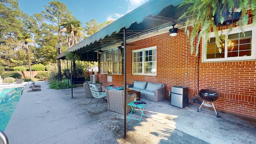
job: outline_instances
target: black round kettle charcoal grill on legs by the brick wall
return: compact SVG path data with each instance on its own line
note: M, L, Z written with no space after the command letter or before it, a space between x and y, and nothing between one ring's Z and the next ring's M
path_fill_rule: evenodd
M211 88L207 88L207 89L201 89L199 91L199 96L203 99L203 102L202 102L201 106L199 108L197 108L197 112L202 111L202 110L200 110L202 105L208 106L208 107L213 107L213 109L215 111L215 114L214 113L210 113L210 112L206 112L206 113L214 114L218 118L219 117L219 113L216 112L216 109L214 107L213 102L216 101L219 98L219 96L220 96L219 93L216 90L212 90ZM204 103L205 101L212 102L212 105ZM202 111L202 112L205 112L205 111Z

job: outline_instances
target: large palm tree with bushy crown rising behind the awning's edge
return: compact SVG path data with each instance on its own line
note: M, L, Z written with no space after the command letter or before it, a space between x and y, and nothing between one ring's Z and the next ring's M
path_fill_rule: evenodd
M84 36L84 29L82 28L82 23L76 18L67 18L60 25L60 32L66 32L68 34L67 44L68 48L78 44L77 38L81 38ZM76 62L73 60L73 77L76 77Z

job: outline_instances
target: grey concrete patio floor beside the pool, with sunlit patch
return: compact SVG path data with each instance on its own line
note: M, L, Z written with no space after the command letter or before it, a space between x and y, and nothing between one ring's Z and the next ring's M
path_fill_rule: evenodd
M197 104L186 108L169 100L146 99L145 115L138 124L107 110L106 100L85 98L84 88L53 90L47 82L36 82L41 91L22 97L6 127L10 144L255 144L256 120L219 112L220 117L197 112ZM212 108L201 108L214 112ZM217 110L218 111L218 110ZM130 113L129 113L130 114ZM128 116L127 114L127 120ZM134 115L133 115L134 116Z

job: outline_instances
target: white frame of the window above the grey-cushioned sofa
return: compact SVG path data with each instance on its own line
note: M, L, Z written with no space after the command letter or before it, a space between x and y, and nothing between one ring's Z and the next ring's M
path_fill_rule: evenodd
M155 61L151 61L151 62L156 62L156 72L155 74L146 74L145 73L145 51L146 50L156 50L156 60ZM133 72L133 64L134 64L134 52L142 52L142 73L134 73ZM149 48L143 48L143 49L140 49L140 50L133 50L132 51L132 74L134 75L146 75L146 76L156 76L157 74L157 49L156 49L156 46L152 46L152 47L149 47Z

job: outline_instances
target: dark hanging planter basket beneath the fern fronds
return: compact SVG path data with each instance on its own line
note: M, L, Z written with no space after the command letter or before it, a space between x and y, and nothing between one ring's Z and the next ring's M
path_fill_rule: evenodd
M221 3L221 0L219 0L219 3ZM240 20L242 11L238 8L237 0L234 0L234 4L235 6L231 11L228 10L227 4L221 4L220 7L217 8L213 16L216 26L227 26ZM224 18L223 23L221 23L221 16Z

